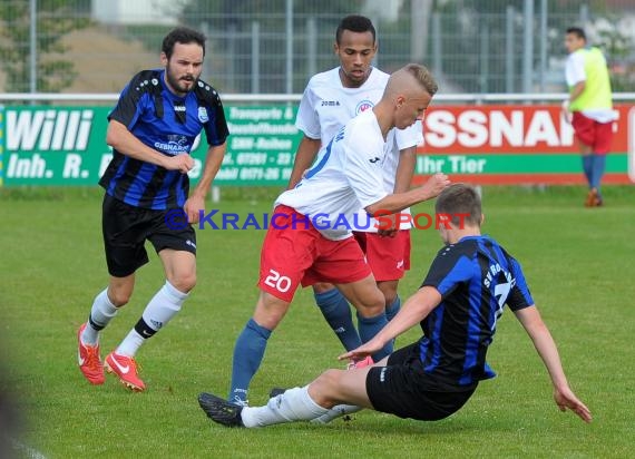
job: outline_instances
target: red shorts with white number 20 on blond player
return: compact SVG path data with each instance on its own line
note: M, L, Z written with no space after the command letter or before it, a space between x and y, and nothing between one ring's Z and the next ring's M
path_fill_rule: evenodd
M276 206L273 215L261 252L258 287L264 292L291 303L300 285L349 284L372 274L353 237L328 240L284 205Z

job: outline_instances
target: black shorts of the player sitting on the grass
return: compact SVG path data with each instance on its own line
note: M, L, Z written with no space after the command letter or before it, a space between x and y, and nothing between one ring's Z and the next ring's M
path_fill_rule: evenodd
M419 359L419 343L393 352L387 367L374 367L367 377L367 393L377 411L420 421L438 421L457 412L476 390L476 385L431 390L433 385Z

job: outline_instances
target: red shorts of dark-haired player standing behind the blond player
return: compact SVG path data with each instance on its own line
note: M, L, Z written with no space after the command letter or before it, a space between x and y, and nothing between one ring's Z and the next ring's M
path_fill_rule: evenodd
M410 230L400 230L394 237L363 232L354 235L375 281L397 281L410 270Z

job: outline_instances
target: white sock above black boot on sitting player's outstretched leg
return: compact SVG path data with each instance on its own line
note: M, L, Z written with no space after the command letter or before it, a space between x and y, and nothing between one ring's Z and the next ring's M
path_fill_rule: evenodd
M245 427L264 427L281 422L307 421L329 412L309 395L309 385L289 389L270 399L264 407L245 407L242 420Z

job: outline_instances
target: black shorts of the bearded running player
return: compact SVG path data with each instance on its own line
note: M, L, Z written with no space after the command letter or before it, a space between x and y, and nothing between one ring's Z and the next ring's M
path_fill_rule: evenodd
M106 248L108 273L115 277L133 274L148 262L145 242L148 240L159 253L164 248L186 251L196 255L196 233L190 225L168 227L169 211L135 207L106 194L104 196L101 230ZM169 223L169 222L168 222Z

